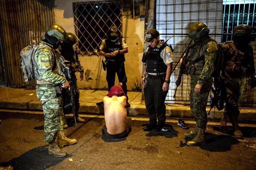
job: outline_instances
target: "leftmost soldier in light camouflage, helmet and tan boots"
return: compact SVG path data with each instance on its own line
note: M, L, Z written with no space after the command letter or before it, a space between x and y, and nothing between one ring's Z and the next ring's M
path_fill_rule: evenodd
M67 153L59 147L72 145L76 139L69 139L63 134L63 112L61 95L56 88L70 88L61 68L64 59L55 53L59 45L66 38L66 31L59 25L53 24L46 29L45 39L40 41L39 48L35 52L37 79L37 97L42 101L44 114L45 142L49 142L48 152L57 157L66 156ZM58 138L58 145L55 138Z

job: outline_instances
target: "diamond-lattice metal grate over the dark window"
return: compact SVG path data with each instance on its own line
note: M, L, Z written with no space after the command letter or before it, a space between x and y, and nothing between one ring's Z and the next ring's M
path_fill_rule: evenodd
M97 51L110 27L122 31L122 1L77 2L73 11L79 54L99 56Z

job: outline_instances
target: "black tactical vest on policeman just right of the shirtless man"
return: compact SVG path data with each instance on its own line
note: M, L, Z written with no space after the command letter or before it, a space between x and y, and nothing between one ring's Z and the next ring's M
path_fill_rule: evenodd
M161 48L152 48L150 45L148 46L145 59L147 63L146 71L147 73L165 73L167 70L166 64L163 62L163 59L160 56L161 51L168 46L164 44Z

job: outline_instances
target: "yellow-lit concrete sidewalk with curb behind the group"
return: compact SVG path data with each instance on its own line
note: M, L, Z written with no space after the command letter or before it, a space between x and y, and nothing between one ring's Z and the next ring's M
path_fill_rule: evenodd
M0 108L42 110L42 103L38 100L35 90L25 90L24 88L11 88L0 86ZM90 114L103 114L103 107L98 107L97 102L103 100L107 91L82 90L80 89L80 109L79 112ZM130 108L127 108L129 116L147 116L145 102L141 100L141 92L128 92ZM209 111L209 107L207 107ZM255 108L241 108L239 120L243 122L256 122ZM220 120L222 111L217 111L208 116L209 120ZM189 105L166 104L166 116L170 118L193 118Z

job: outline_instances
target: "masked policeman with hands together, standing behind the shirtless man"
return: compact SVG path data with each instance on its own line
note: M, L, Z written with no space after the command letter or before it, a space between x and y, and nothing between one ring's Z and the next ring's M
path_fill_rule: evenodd
M110 91L111 87L115 85L115 73L117 73L119 83L122 83L122 89L127 96L127 77L125 73L125 56L128 52L128 46L125 39L118 36L118 28L116 26L110 27L109 37L102 40L99 48L99 53L105 56L106 71L107 71L107 86ZM127 107L130 107L127 97Z

